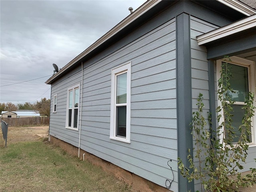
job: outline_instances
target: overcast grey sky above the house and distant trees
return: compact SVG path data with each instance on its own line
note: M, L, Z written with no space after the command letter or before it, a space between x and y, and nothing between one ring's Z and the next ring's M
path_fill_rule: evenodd
M0 0L0 102L50 98L52 64L65 66L144 2Z

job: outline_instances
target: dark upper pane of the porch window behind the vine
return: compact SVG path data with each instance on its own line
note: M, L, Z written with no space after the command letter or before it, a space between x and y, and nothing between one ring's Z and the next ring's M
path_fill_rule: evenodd
M230 73L233 75L230 77L231 88L235 93L231 93L232 100L244 102L246 96L248 96L248 68L228 63L230 67Z

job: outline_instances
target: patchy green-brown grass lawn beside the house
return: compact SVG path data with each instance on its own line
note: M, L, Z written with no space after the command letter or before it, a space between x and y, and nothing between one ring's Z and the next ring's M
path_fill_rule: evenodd
M9 134L9 133L8 133ZM2 137L2 134L0 134ZM0 148L1 192L130 192L100 167L42 139Z

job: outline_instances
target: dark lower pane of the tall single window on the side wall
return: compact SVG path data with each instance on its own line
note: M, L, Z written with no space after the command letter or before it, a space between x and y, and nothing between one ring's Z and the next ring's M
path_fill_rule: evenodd
M116 107L116 136L126 137L126 106Z

